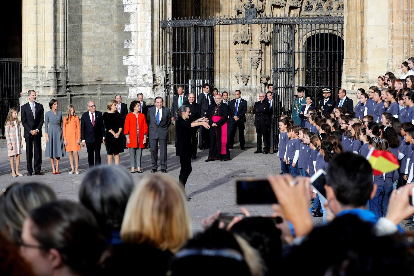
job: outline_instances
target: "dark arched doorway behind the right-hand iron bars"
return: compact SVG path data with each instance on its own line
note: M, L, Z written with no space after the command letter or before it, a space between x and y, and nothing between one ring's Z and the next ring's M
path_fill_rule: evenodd
M305 86L314 95L314 103L322 98L322 89L332 90L337 98L341 89L344 40L337 34L313 34L305 45Z

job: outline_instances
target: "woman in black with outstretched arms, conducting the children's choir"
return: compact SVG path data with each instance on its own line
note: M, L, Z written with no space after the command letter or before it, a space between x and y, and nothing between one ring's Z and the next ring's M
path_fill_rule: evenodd
M180 157L180 175L178 176L178 181L180 181L184 186L187 182L188 176L191 173L191 127L198 127L202 125L203 127L209 129L208 119L203 117L190 122L190 108L188 106L181 106L176 111L176 154ZM190 199L190 198L188 198Z

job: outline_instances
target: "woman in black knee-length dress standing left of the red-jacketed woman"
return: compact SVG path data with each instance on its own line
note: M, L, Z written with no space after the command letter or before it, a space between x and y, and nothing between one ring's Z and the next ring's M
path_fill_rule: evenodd
M108 164L112 164L112 158L115 156L115 165L119 164L119 153L124 152L122 137L122 120L121 115L116 110L117 102L111 100L106 106L108 111L103 113L103 125L105 126L105 147L108 154Z

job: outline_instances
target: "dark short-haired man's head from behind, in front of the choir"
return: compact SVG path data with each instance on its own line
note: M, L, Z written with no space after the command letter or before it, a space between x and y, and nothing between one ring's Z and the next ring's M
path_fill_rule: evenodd
M351 152L335 155L329 162L325 186L334 214L363 208L376 191L372 179L371 165L362 156Z

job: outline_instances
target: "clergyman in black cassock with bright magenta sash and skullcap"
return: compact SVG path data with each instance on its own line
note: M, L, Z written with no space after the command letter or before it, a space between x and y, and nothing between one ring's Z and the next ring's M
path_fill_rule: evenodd
M227 117L230 115L230 109L221 100L222 96L217 94L214 98L216 103L210 105L206 113L210 125L210 151L206 162L218 159L231 160L227 140Z

